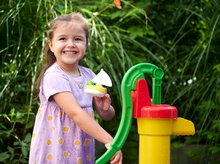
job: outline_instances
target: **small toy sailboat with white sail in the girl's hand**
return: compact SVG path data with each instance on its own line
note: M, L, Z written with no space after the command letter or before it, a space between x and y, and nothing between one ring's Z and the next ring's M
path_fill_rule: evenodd
M91 81L88 81L84 87L84 91L93 96L103 97L107 93L107 89L102 85L108 87L112 86L112 81L109 75L103 69L101 69Z

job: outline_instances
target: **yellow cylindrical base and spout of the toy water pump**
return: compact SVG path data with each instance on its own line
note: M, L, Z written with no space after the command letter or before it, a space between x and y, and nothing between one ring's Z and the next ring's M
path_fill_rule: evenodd
M193 135L194 124L186 119L138 118L139 164L169 164L170 136Z

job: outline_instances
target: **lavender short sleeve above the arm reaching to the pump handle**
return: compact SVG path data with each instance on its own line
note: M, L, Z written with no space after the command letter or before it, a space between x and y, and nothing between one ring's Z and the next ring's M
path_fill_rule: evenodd
M45 73L42 87L43 94L47 100L56 93L71 92L71 86L67 76L60 72Z

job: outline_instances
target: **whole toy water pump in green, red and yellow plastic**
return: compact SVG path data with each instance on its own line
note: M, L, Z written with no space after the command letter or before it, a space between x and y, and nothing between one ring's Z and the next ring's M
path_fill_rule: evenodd
M152 76L152 103L145 74ZM177 109L161 104L164 71L149 63L131 67L123 77L122 116L118 131L108 149L96 164L104 164L122 148L130 131L132 117L137 119L139 164L169 164L170 136L193 135L194 124L178 117Z

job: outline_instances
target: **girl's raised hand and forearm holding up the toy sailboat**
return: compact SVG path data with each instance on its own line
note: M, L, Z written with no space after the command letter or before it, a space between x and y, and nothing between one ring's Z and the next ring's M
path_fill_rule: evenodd
M93 105L103 120L110 120L115 116L115 109L111 106L109 94L103 97L94 96Z

